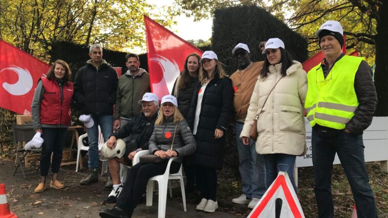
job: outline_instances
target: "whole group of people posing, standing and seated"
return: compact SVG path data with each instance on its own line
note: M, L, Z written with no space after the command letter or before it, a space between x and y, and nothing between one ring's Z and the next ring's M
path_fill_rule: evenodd
M242 194L232 202L253 208L279 171L287 172L297 192L293 169L296 156L307 150L306 111L313 129L318 216L334 216L331 173L338 154L358 217L377 217L362 143L362 132L371 124L377 104L371 69L362 58L342 53L343 30L338 21L327 21L315 35L325 58L308 74L279 38L261 43L265 60L258 62L251 61L247 45L236 45L231 53L238 70L230 77L213 51L205 51L202 57L190 54L171 95L161 99L160 107L158 97L150 93L149 74L140 68L136 54L125 57L128 71L118 79L102 59L102 47L91 46L91 59L78 70L74 86L67 63L57 60L47 77L39 80L32 103L34 128L45 140L41 180L35 192L46 188L51 153L50 186L63 188L57 173L72 99L81 114L90 114L94 121L87 128L89 175L80 184L98 181L98 126L110 149L115 149L117 139L126 142L124 156L108 161L112 191L105 203L116 204L101 211L101 217L131 217L148 179L166 170L166 161L138 163L122 184L119 163L132 165L140 150L165 160L177 157L170 172L177 172L183 164L186 188L200 188L201 202L196 209L217 210L217 170L223 167L225 133L233 119ZM251 138L252 128L257 129L257 138Z

